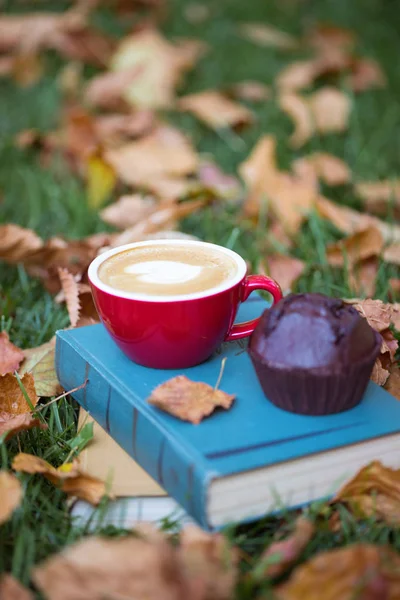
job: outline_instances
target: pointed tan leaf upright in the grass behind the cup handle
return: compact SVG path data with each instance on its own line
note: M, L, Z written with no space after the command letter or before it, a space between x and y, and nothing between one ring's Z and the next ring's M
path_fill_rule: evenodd
M239 166L239 172L248 188L245 214L258 218L263 205L268 203L287 233L297 233L314 205L316 190L300 177L278 170L275 139L263 136L249 158Z

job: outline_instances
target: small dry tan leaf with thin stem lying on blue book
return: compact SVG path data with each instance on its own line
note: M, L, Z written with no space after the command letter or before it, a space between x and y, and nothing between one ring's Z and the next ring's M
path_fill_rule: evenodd
M178 375L157 386L147 399L149 404L183 421L198 424L217 407L231 407L235 396L215 390L207 383Z

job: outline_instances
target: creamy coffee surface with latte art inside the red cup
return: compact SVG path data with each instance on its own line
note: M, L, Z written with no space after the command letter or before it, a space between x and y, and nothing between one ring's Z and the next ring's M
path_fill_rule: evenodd
M232 279L237 269L234 259L218 250L157 244L114 254L100 265L98 275L117 290L175 296L215 288Z

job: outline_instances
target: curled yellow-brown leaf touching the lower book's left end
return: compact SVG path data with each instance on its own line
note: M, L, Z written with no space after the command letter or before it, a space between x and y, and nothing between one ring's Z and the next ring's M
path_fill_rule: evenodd
M80 470L77 461L64 463L57 469L38 456L20 452L12 462L14 471L40 474L66 494L97 505L107 493L106 484Z

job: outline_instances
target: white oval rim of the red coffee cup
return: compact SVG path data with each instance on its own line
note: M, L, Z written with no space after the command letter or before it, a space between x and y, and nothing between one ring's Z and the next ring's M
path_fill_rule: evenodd
M119 254L120 252L125 252L126 250L130 250L132 248L138 248L141 246L198 246L198 247L206 247L206 248L214 248L219 252L226 254L233 258L236 262L238 271L236 275L222 283L221 285L215 286L208 290L204 290L202 292L194 292L192 294L176 294L174 296L153 296L150 294L139 294L135 292L126 292L123 290L118 290L116 288L111 287L110 285L101 281L98 276L98 270L100 265L109 259L111 256L115 254ZM240 283L243 278L246 276L247 265L245 260L234 252L234 250L230 250L229 248L225 248L224 246L220 246L219 244L212 244L210 242L203 242L201 240L144 240L141 242L132 242L130 244L124 244L122 246L117 246L116 248L111 248L110 250L106 250L102 254L99 254L89 265L88 268L88 278L91 285L98 288L102 292L106 292L112 296L116 296L118 298L126 298L127 300L135 300L142 302L159 302L159 303L167 303L167 302L184 302L186 300L199 300L200 298L208 298L210 296L215 296L221 292L225 292L233 287L235 287L238 283Z

